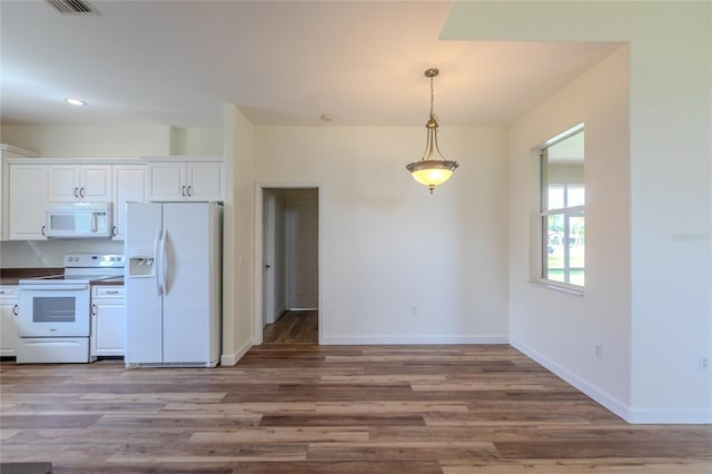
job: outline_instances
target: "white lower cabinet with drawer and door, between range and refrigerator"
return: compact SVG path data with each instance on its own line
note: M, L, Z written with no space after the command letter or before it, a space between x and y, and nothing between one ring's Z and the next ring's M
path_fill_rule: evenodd
M126 347L126 305L123 286L91 287L92 357L123 356Z

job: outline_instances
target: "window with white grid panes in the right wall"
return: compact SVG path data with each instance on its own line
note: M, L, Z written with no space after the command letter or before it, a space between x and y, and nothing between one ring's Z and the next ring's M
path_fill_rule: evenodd
M562 286L585 280L583 139L582 124L547 141L540 157L541 277Z

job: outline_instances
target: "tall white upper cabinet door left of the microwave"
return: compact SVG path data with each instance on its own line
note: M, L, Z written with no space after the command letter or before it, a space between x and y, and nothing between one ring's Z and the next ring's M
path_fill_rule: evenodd
M44 240L47 165L10 165L10 240Z

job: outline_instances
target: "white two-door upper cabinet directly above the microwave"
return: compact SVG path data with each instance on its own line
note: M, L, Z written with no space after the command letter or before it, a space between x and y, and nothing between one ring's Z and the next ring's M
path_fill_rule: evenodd
M111 165L49 165L49 200L110 201Z

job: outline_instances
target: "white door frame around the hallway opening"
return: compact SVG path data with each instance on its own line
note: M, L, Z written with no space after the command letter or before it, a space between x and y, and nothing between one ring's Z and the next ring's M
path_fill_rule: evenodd
M263 230L264 230L264 204L263 196L265 189L316 189L317 192L317 221L318 221L318 332L319 344L324 340L324 187L320 182L255 182L255 313L253 322L253 344L263 343L263 314L264 314L264 254L263 254Z

